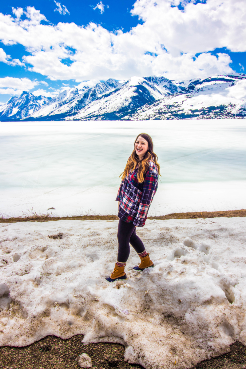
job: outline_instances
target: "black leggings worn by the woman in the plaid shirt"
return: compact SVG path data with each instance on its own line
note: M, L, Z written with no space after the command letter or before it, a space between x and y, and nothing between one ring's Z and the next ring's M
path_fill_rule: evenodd
M127 223L120 219L118 225L117 238L119 243L117 261L119 263L126 263L127 259L129 258L130 255L129 242L138 254L141 254L142 252L145 251L143 242L136 235L136 228L133 223Z

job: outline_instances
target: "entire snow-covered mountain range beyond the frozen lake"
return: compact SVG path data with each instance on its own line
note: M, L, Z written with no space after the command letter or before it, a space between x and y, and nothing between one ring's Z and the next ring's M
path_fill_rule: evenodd
M246 75L179 81L165 77L108 79L57 96L22 92L0 107L0 121L246 118Z

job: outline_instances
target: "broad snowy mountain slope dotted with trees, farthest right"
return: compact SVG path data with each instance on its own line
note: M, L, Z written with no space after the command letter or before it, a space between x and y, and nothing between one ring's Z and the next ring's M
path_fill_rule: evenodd
M124 119L246 117L246 77L216 76L189 81L183 93L146 104Z

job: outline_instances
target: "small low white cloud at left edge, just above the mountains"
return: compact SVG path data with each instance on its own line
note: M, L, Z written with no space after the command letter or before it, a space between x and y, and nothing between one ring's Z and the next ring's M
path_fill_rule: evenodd
M30 80L29 78L3 77L0 78L0 94L19 95L22 91L30 91L42 83L48 86L45 81Z

